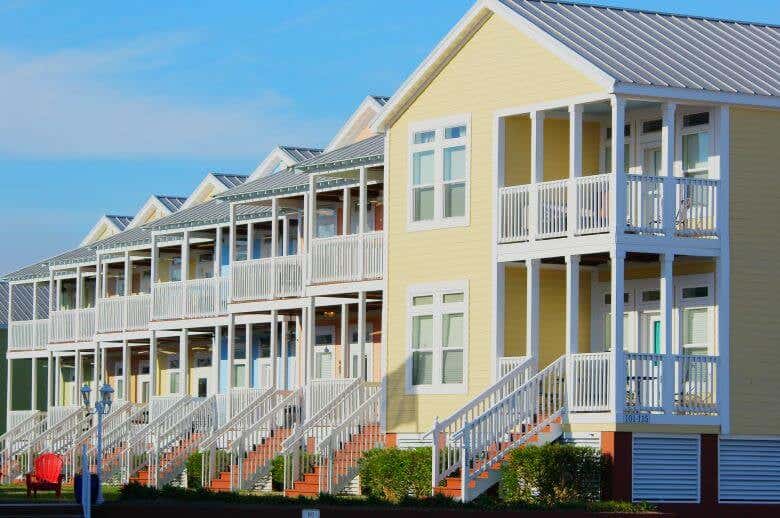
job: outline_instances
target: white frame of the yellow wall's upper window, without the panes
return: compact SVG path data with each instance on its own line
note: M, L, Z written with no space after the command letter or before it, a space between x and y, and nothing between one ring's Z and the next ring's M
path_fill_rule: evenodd
M463 216L444 217L444 129L452 126L466 126L466 136L461 139L453 139L446 147L463 145L465 149L465 199ZM415 144L414 135L421 131L435 131L432 143ZM407 221L406 229L409 232L435 230L453 227L466 227L469 225L470 201L471 201L471 114L452 115L439 119L430 119L409 125L409 156L407 164L409 168L407 185ZM433 219L414 221L414 154L417 151L432 150L434 181L433 181Z

